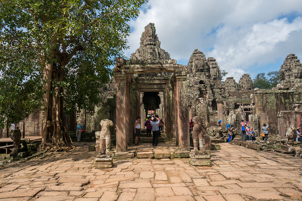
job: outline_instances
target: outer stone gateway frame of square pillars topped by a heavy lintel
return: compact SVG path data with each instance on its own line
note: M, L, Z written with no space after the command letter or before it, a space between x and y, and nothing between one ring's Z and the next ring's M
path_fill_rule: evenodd
M179 150L190 151L190 138L188 127L188 88L186 84L187 79L187 66L177 64L176 60L157 60L156 62L150 60L125 60L124 58L117 58L116 66L113 69L114 80L116 83L116 149L117 152L126 152L128 139L130 137L130 121L131 118L125 119L125 114L130 111L130 96L129 85L133 80L133 74L144 73L159 73L170 72L172 73L169 83L165 84L165 129L167 134L172 136L172 121L169 118L169 111L172 111L172 117L175 118L175 125L177 125L176 141L179 146ZM140 86L137 83L135 86L135 94L137 99L137 105L133 108L137 113L134 116L140 114ZM154 89L153 89L154 90ZM170 93L171 91L171 93ZM170 104L172 97L174 100ZM173 107L171 106L174 105ZM167 118L168 117L168 118ZM142 117L144 118L144 117ZM135 120L133 120L135 121ZM177 123L176 123L177 122Z

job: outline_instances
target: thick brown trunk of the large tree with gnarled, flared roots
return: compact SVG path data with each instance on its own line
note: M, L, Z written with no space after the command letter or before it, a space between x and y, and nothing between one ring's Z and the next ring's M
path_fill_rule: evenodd
M43 70L44 118L42 143L38 151L66 151L73 149L64 114L63 87L58 86L64 79L62 64L46 64Z

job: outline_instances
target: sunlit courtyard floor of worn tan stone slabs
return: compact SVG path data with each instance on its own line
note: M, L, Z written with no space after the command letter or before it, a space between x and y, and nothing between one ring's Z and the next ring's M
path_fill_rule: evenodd
M128 159L95 169L90 144L1 165L0 201L302 200L301 158L221 143L212 150L212 167L194 167L188 159Z

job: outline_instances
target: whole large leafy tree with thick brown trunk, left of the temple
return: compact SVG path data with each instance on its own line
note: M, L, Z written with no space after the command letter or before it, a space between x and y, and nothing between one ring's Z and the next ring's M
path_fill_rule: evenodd
M26 73L37 72L35 79L39 76L41 78L44 119L39 150L67 150L73 147L63 109L64 87L70 85L69 80L73 77L66 76L87 75L85 72L92 68L94 72L89 74L95 74L106 81L108 76L100 74L108 75L113 58L120 56L128 48L126 37L129 36L130 27L127 22L137 17L138 9L144 2L145 0L0 2L0 51L4 58L1 60L1 68L11 72L16 72L16 67L24 68ZM24 81L26 79L32 78L26 77ZM78 90L76 87L75 93Z

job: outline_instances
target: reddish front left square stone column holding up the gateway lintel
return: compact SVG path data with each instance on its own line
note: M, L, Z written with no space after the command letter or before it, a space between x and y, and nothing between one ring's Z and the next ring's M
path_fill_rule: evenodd
M127 80L126 73L114 72L114 80L116 84L116 150L117 152L127 151L127 135L126 135L126 96L127 96Z

